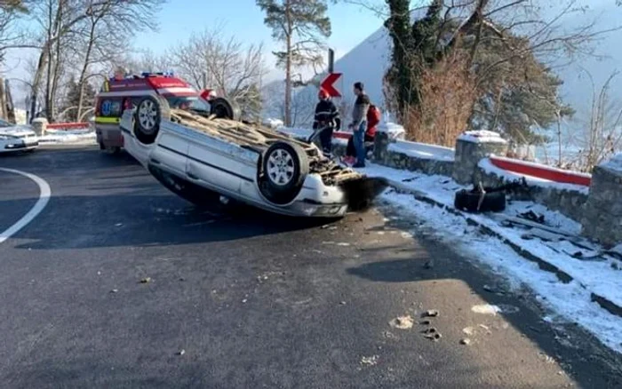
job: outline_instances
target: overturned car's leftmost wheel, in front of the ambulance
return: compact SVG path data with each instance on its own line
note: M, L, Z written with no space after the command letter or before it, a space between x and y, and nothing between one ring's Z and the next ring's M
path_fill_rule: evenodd
M171 108L160 96L140 99L134 112L134 135L140 143L150 145L156 141L162 120L171 119Z

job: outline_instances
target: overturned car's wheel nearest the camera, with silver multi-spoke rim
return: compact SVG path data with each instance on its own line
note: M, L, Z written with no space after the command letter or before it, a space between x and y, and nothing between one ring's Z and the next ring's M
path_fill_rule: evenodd
M309 172L307 153L290 142L277 141L260 159L259 189L267 201L278 205L292 202Z

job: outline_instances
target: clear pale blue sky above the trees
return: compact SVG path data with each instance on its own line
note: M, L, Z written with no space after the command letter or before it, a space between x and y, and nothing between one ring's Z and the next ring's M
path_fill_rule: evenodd
M371 0L371 3L374 1ZM384 1L378 0L377 3L383 4ZM329 17L332 34L327 44L335 51L338 59L356 44L363 42L383 23L377 12L345 2L331 4L329 1ZM283 71L275 68L275 57L271 52L279 49L279 44L274 41L270 28L264 25L263 20L264 12L255 4L255 0L168 0L157 13L157 31L139 33L133 41L137 48L163 53L168 47L184 42L193 33L222 26L226 37L235 36L246 44L264 44L267 66L271 69L266 80L269 82L281 78ZM27 60L35 56L32 50L9 52L4 76L28 80ZM20 105L20 99L23 99L21 90L25 86L19 81L13 84L15 102Z

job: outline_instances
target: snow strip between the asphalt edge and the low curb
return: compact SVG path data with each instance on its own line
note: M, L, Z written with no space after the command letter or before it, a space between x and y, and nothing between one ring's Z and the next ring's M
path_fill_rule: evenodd
M382 194L398 206L403 214L419 219L422 226L431 227L435 237L454 247L466 258L490 266L493 272L508 279L517 290L522 284L536 293L538 302L550 311L546 316L560 322L577 322L601 339L604 345L622 353L622 319L602 309L591 300L590 291L574 280L564 284L538 265L516 254L505 243L489 235L480 234L466 219L447 210L419 202L411 194L388 191ZM620 274L618 274L618 278Z

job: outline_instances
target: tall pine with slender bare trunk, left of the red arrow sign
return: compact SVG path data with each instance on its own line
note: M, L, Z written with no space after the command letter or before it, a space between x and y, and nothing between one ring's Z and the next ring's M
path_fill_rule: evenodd
M326 0L257 0L266 12L264 23L272 36L283 43L282 52L274 52L277 65L285 69L285 125L291 125L292 70L323 63L322 38L331 36L331 20L326 15Z

